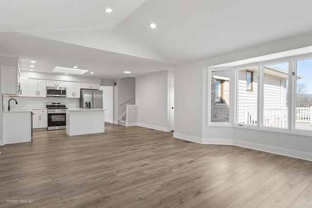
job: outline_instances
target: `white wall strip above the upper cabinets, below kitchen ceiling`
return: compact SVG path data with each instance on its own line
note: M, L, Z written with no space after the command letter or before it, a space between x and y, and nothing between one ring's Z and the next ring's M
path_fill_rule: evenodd
M91 76L62 75L62 74L30 72L30 71L20 71L20 76L26 77L26 78L32 78L32 79L48 79L48 80L70 81L70 82L101 83L101 78L91 77Z

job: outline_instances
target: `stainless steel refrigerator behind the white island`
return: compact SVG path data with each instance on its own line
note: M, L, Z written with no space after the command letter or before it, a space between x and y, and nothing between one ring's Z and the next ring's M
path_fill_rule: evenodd
M80 95L80 108L103 109L102 90L81 90Z

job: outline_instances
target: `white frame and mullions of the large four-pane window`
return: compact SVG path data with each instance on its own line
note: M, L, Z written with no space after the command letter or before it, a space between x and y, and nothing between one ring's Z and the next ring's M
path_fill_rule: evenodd
M207 103L207 126L208 127L235 127L250 130L259 130L266 132L287 133L293 135L312 136L312 131L301 130L295 128L296 119L296 61L312 58L312 53L296 56L285 56L282 58L272 58L265 61L254 61L248 64L241 64L235 66L214 66L206 67L208 72L208 103ZM264 86L264 66L273 65L283 62L289 62L289 74L288 74L288 128L275 128L263 126L263 86ZM227 64L229 65L229 64ZM257 125L245 125L239 124L237 120L238 112L238 70L246 69L248 67L258 66L257 75L253 77L257 79ZM229 71L230 73L230 108L229 108L229 123L216 123L211 121L211 72L212 71ZM254 86L253 86L254 87Z

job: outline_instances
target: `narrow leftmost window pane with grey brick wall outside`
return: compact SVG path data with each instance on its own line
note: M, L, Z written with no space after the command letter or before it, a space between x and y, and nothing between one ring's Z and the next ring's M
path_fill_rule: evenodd
M211 122L229 122L230 74L229 71L211 72Z

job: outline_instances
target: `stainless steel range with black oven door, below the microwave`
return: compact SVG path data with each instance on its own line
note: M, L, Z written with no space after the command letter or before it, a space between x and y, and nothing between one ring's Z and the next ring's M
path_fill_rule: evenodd
M48 130L66 129L66 106L62 102L48 102Z

